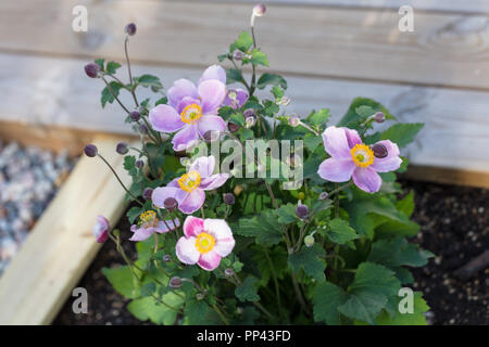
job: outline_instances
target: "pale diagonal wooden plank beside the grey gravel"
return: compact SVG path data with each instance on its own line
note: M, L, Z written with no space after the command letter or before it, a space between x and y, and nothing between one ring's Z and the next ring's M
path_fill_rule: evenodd
M116 141L93 142L127 184ZM83 157L0 278L0 324L49 324L100 248L92 228L103 214L112 224L125 192L98 159Z

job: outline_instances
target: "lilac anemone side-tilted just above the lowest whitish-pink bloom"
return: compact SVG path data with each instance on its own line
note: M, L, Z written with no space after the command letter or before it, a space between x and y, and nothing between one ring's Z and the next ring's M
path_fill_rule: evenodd
M156 188L151 200L160 208L164 208L165 200L173 197L178 203L178 209L190 215L202 207L205 192L223 185L229 178L228 174L212 174L215 167L214 156L197 158L187 174L171 181L166 187Z

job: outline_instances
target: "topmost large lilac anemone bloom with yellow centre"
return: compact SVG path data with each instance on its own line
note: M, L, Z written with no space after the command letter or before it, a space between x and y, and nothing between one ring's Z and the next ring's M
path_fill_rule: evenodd
M152 108L149 119L158 131L177 131L172 140L175 151L185 151L210 130L226 130L226 123L217 116L226 98L226 73L221 66L208 67L197 87L185 78L174 81L167 97L168 104Z

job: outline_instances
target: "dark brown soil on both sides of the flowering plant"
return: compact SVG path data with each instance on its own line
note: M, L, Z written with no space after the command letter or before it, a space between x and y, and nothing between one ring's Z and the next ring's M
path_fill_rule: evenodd
M414 271L416 290L423 291L431 307L431 324L489 324L489 268L467 281L453 272L489 246L489 191L405 181L403 187L415 191L413 219L422 226L415 240L437 255L429 264ZM129 229L122 219L117 228ZM122 234L128 236L128 234ZM126 253L134 255L134 244L125 243ZM77 286L87 288L87 314L72 311L74 298L68 298L54 324L141 324L127 310L127 299L114 292L101 272L102 267L122 264L113 243L106 242ZM142 322L148 324L148 322Z

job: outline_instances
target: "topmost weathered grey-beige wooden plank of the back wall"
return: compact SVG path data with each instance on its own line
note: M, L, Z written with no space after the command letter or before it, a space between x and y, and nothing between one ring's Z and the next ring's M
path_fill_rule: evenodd
M87 5L86 34L71 30L75 4ZM123 27L134 21L138 24L130 43L135 61L193 66L214 63L248 27L250 4L17 0L0 2L0 13L3 51L123 61ZM399 18L389 9L271 4L256 31L259 44L279 72L489 88L486 15L416 13L414 33L400 33Z

